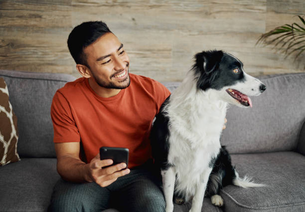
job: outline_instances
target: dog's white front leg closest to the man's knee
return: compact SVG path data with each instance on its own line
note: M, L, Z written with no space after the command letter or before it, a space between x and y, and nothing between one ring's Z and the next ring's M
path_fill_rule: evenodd
M161 170L163 194L165 198L165 212L173 211L172 197L175 187L176 175L174 167L169 167L167 170Z

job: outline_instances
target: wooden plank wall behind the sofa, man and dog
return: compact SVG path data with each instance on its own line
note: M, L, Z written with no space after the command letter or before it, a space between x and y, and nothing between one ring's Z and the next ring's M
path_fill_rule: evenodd
M276 26L298 21L304 0L0 0L1 69L69 73L72 28L103 20L124 43L131 71L180 81L196 52L222 49L251 75L304 72L304 58L255 46Z

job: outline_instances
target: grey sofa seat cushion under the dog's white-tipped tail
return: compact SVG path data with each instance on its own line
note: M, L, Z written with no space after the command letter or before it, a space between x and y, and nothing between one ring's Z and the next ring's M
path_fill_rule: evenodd
M305 157L296 152L231 155L241 177L253 177L261 188L227 186L221 191L226 212L303 212Z

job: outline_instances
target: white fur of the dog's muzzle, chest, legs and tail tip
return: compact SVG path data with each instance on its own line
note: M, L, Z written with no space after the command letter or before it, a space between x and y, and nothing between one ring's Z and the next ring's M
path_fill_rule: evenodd
M190 212L200 212L202 200L212 171L209 162L217 157L220 134L228 103L243 107L227 92L227 88L246 95L259 95L261 82L245 73L245 81L221 90L197 90L194 72L188 72L181 85L173 91L163 109L169 117L168 170L162 172L166 212L172 212L173 190L184 192L186 201L193 198ZM241 183L239 178L236 184ZM249 183L249 182L248 182ZM218 198L219 199L219 198ZM217 200L217 204L221 204Z

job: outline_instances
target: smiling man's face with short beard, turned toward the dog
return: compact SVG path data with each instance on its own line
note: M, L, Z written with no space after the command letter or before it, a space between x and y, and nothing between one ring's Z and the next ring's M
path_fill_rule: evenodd
M106 33L84 48L92 77L104 88L123 89L129 86L129 57L123 44L113 33Z

